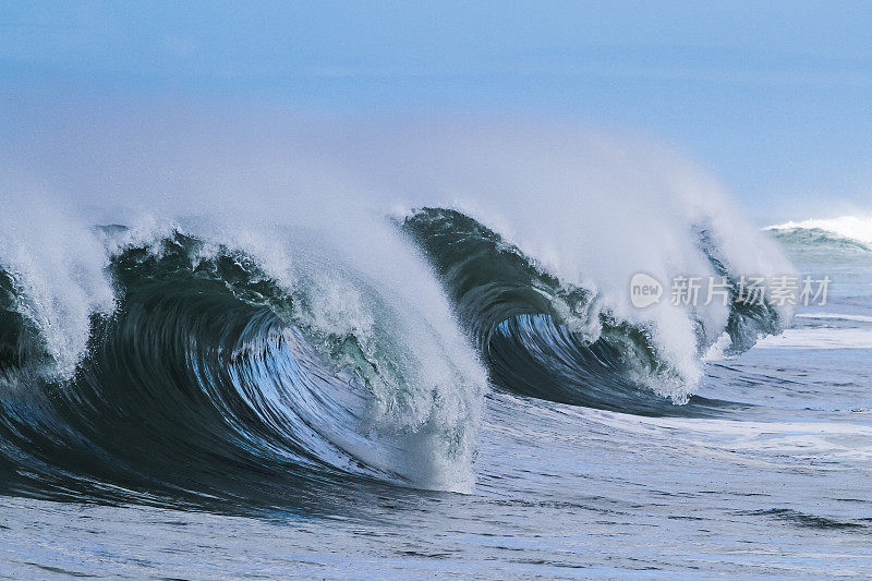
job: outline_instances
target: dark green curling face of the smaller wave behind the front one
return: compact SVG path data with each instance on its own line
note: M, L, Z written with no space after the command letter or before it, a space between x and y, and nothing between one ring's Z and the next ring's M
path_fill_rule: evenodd
M637 414L707 414L727 404L692 398L690 406L674 406L662 395L663 386L681 389L688 379L663 353L650 323L618 318L608 298L562 283L471 217L424 208L407 216L401 227L445 282L496 385L525 396ZM729 338L727 351L744 351L759 337L777 332L783 314L770 302L739 301L738 275L718 258L720 251L707 231L700 230L698 237L713 274L730 283L729 317L723 329ZM694 324L701 356L716 334L705 329L702 317Z

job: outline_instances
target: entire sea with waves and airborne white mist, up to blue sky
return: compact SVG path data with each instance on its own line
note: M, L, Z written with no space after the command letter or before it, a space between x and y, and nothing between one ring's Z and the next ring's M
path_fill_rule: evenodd
M868 218L761 229L663 144L567 124L19 123L7 572L872 572ZM639 308L638 273L729 300Z

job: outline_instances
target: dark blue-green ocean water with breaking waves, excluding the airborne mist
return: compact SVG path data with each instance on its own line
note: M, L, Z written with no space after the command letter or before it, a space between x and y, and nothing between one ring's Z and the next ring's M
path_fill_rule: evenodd
M461 206L371 246L44 209L0 225L2 577L872 576L868 219L570 263ZM669 304L691 273L728 304Z

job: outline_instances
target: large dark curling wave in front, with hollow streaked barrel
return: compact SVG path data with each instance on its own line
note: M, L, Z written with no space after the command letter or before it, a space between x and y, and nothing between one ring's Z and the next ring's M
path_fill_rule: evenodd
M95 234L114 244L117 305L92 315L69 375L45 320L22 310L24 287L0 273L0 469L23 476L8 482L209 497L355 481L469 488L484 377L446 363L450 344L374 281L298 256L287 289L245 252L178 230L138 244L124 227Z

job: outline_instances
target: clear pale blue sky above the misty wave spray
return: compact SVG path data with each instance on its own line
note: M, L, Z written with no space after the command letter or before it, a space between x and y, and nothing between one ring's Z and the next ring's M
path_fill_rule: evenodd
M764 217L872 211L872 2L0 3L0 116L94 98L567 119Z

